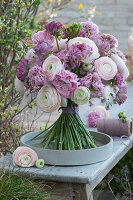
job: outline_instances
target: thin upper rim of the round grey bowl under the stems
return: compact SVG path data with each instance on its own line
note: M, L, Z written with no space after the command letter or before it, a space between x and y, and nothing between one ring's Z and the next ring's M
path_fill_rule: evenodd
M35 133L35 132L39 132L39 131L34 131L34 132L29 132L29 133L26 133L25 135L30 135L31 133ZM107 144L105 144L105 145L102 145L102 146L99 146L99 147L95 147L95 148L88 148L88 149L78 149L78 150L55 150L55 149L44 149L44 148L38 148L38 147L36 147L36 149L43 149L43 151L50 151L50 152L52 152L52 151L54 151L54 152L79 152L79 151L90 151L90 150L92 150L93 149L93 151L94 151L94 149L101 149L101 148L103 148L103 147L107 147L107 146L110 146L111 144L113 145L113 139L112 139L112 137L111 136L109 136L109 135L107 135L107 134L105 134L105 133L102 133L102 132L98 132L98 131L89 131L90 133L91 132L94 132L94 133L100 133L100 134L102 134L102 135L104 135L105 137L108 137L109 139L110 139L110 141L107 143ZM20 138L20 144L21 144L21 140L24 138L24 136L25 135L23 135L21 138ZM23 142L23 143L25 143L25 142ZM26 146L28 146L28 147L30 147L31 148L31 145L28 145L28 144L25 144ZM24 146L24 145L22 145L22 146Z

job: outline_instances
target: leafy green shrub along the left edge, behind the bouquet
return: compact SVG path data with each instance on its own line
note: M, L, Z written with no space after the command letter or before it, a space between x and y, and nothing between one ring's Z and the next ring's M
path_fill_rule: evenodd
M35 15L41 0L0 1L0 149L16 148L21 128L14 123L20 113L15 106L20 97L15 92L16 66L26 54L24 39L39 30Z

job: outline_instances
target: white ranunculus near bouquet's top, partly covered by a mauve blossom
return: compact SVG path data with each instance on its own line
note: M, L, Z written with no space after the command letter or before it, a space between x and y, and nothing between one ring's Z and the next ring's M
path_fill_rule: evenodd
M83 59L82 62L90 63L93 59L99 58L98 48L92 40L90 40L89 38L84 38L84 37L76 37L69 40L68 47L70 48L73 44L76 44L77 42L79 42L80 44L86 43L93 49L92 54L88 56L87 58Z

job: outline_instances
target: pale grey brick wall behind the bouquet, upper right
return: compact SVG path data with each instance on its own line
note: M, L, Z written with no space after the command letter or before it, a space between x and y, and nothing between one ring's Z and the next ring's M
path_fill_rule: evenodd
M133 27L133 0L75 0L70 9L58 13L58 19L69 23L85 21L77 12L79 3L86 11L96 5L101 15L95 16L92 21L99 25L100 32L113 34L119 41L119 49L126 52L128 33Z

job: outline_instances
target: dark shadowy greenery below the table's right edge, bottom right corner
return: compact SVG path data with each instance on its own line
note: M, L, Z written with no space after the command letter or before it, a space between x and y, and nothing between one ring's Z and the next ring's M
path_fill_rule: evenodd
M133 148L111 170L97 189L111 190L115 196L119 194L127 200L133 198Z

